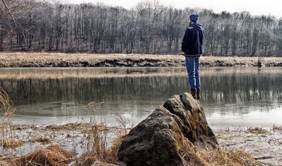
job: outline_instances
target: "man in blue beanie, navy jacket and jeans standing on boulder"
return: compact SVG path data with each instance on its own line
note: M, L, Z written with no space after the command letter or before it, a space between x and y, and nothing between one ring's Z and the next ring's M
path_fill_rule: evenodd
M190 93L194 99L200 97L200 57L204 44L204 30L201 24L198 24L199 15L191 14L189 16L189 26L185 30L181 43L182 55L185 56L185 65L190 84Z

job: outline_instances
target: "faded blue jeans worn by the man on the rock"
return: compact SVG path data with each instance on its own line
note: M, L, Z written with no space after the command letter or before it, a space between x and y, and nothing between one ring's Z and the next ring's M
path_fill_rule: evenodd
M185 57L185 65L188 73L190 89L200 89L200 56Z

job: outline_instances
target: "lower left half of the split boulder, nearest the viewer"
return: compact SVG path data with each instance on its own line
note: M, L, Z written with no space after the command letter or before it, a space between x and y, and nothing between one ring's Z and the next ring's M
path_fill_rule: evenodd
M189 129L162 106L134 127L122 142L118 159L126 165L184 165L183 133Z

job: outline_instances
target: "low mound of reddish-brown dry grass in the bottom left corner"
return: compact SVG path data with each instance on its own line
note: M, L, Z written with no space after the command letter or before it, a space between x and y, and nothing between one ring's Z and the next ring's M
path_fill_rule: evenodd
M75 153L67 151L59 145L51 145L46 148L38 148L25 156L19 156L17 159L7 161L14 166L38 166L38 165L66 165L74 160Z

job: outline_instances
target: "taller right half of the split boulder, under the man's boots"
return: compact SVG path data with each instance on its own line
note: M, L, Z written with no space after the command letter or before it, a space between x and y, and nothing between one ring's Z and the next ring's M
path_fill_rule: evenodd
M184 125L189 128L189 133L184 134L195 146L202 149L213 150L218 145L214 133L208 126L203 107L198 100L194 100L190 93L173 95L164 107L172 114L177 115Z

